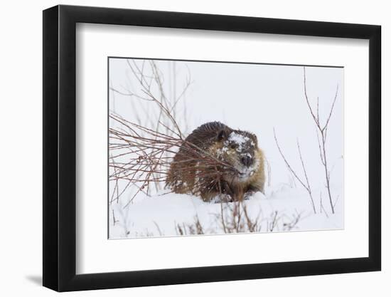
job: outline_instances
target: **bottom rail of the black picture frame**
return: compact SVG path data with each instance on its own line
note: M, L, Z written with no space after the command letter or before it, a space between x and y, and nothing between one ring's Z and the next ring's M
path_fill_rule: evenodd
M281 265L284 265L283 270L280 269ZM191 267L183 269L86 273L73 277L61 291L244 281L262 278L359 273L379 270L373 259L351 258L270 264ZM91 286L91 283L94 283L94 285Z

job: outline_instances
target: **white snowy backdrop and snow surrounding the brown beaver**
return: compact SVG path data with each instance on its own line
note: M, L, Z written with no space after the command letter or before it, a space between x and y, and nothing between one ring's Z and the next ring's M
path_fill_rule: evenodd
M191 80L177 106L178 122L186 135L199 125L215 120L257 135L258 145L271 168L271 178L265 194L255 194L245 201L245 206L250 217L259 221L259 231L343 229L343 68L306 66L307 93L314 108L318 98L321 123L328 117L338 85L326 144L335 204L335 214L332 214L316 125L304 98L303 66L155 62L164 77L166 95L178 97L186 81ZM110 88L123 93L137 92L136 85L128 61L110 58ZM109 91L109 110L129 121L153 118L154 108L156 105L146 101ZM116 123L110 120L109 125L113 127ZM286 160L304 179L296 142L300 143L316 214L309 194L289 172L279 154L274 129ZM114 183L110 182L109 194L113 188ZM178 226L182 234L190 234L188 226L194 226L195 220L200 222L204 234L224 233L218 219L221 216L218 203L203 202L199 197L186 194L164 194L167 192L164 189L150 195L140 192L130 201L135 191L134 187L129 187L118 201L109 204L110 239L177 236L181 234ZM227 205L225 209L226 220L229 220L229 208Z

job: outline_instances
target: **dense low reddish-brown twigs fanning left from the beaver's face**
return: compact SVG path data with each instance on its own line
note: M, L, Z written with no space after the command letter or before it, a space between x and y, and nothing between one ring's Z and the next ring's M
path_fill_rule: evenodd
M154 98L152 99L159 104L157 100ZM159 104L159 106L161 105ZM164 107L161 106L161 108ZM191 167L181 167L181 172L178 172L182 177L190 174L197 174L195 182L200 184L195 184L194 189L203 187L202 182L206 177L205 175L213 177L215 181L218 182L221 175L224 173L224 170L234 170L232 165L210 155L209 152L200 149L200 147L193 145L193 143L187 142L173 118L171 120L173 121L173 126L176 127L176 130L171 130L173 136L162 132L156 132L136 123L131 123L124 118L120 118L118 115L110 115L110 118L122 125L120 128L109 128L111 160L116 160L117 157L124 156L127 157L127 160L126 162L112 161L109 163L109 167L112 168L109 180L115 182L114 190L117 191L119 180L127 181L127 187L129 187L130 184L137 187L136 193L125 207L132 202L132 199L134 199L139 192L144 192L148 195L151 185L166 182L168 169L175 162L173 161L173 157L179 147L190 152L188 155L195 157L198 162L198 167L205 169L202 172L194 172ZM115 153L118 148L121 150ZM181 160L178 162L191 161L193 160ZM124 190L117 194L117 199L123 192Z

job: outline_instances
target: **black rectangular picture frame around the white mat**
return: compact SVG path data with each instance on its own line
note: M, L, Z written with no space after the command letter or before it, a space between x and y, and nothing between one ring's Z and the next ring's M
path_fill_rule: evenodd
M77 23L369 40L369 255L365 258L76 274ZM43 286L55 291L309 276L381 269L381 27L318 21L55 6L43 11Z

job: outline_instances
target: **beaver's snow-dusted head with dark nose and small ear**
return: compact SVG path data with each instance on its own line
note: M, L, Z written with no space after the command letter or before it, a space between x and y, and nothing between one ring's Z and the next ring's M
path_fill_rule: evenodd
M220 130L216 139L218 158L232 166L231 170L225 173L225 178L232 182L245 182L257 172L257 136L241 130Z

